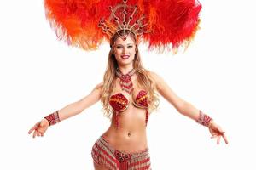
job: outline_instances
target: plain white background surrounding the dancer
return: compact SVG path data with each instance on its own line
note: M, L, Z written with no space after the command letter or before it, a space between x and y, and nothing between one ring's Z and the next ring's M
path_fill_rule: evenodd
M207 112L230 144L160 98L148 122L155 170L256 169L255 6L253 1L202 1L201 30L185 53L148 52L144 66L181 98ZM90 150L109 126L97 103L32 139L30 127L90 93L102 81L108 44L84 52L56 40L42 1L0 5L0 169L93 169Z

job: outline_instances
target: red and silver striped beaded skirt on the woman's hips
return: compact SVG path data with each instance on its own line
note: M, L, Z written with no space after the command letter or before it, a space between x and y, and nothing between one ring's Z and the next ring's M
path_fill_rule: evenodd
M109 170L150 170L148 149L139 153L124 153L115 150L106 139L100 137L91 150L93 161Z

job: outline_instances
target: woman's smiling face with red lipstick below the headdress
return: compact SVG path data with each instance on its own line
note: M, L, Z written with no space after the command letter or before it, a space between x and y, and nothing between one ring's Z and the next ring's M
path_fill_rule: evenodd
M136 45L131 36L128 36L125 41L118 37L113 45L113 53L118 65L132 65L136 54Z

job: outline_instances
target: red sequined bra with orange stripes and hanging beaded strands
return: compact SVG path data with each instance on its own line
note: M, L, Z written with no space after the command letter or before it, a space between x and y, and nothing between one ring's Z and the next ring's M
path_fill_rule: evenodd
M145 123L147 126L148 123L148 93L145 90L140 90L137 94L137 97L135 101L132 101L132 104L138 108L144 108L146 109L146 118ZM119 127L119 113L122 111L125 111L130 102L129 99L125 97L124 94L118 93L114 94L109 99L109 105L113 108L113 111L115 113L115 126Z

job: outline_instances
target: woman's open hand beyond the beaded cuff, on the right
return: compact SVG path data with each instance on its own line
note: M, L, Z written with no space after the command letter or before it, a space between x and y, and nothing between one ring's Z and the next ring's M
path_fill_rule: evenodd
M216 124L215 122L211 121L209 123L209 131L212 134L212 139L213 138L217 138L217 144L219 144L220 138L222 137L225 141L226 144L228 144L228 139L226 137L226 135L224 134L225 132L222 130L221 127L218 126L218 124Z

